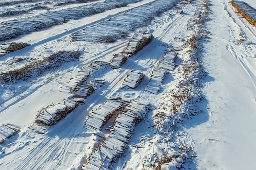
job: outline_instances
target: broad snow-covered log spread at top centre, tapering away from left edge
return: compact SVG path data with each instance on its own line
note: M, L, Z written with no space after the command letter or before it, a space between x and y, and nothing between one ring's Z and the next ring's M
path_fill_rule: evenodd
M149 25L153 19L170 10L175 3L174 0L154 0L117 17L104 20L95 26L87 27L73 34L72 38L74 41L95 43L116 42L126 38L138 28Z

